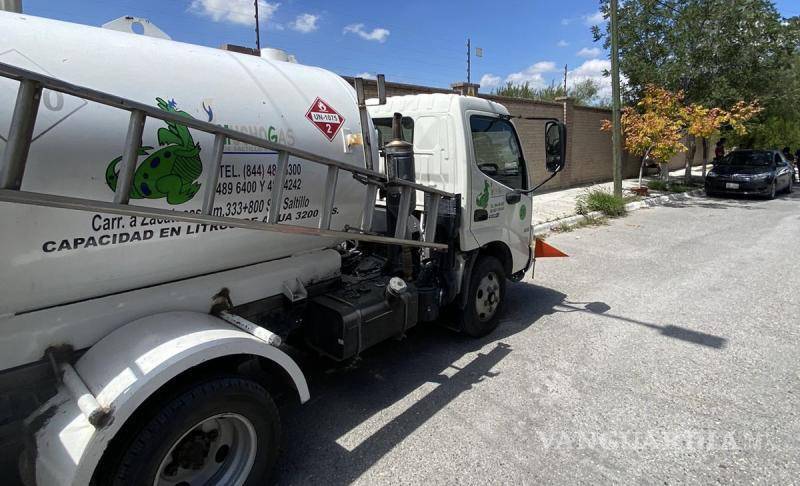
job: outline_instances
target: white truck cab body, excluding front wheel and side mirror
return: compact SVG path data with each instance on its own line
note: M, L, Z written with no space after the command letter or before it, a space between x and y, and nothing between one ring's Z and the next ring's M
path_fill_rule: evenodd
M419 94L390 97L369 112L380 145L391 138L393 114L402 113L417 181L462 195L462 252L493 247L508 276L530 266L532 198L525 191L531 181L503 105L457 94Z

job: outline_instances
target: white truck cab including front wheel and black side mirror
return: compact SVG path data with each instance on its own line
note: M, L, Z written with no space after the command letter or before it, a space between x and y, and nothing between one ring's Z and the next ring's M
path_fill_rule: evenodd
M367 106L379 147L393 137L393 117L402 115L400 133L413 145L416 181L461 195L455 288L449 294L455 296L452 306L462 331L491 332L506 279L522 279L533 263L533 189L511 114L500 103L444 93L389 97L383 104L371 100ZM555 174L564 163L565 127L544 121L543 155ZM384 169L385 157L381 164ZM422 200L418 195L418 209Z

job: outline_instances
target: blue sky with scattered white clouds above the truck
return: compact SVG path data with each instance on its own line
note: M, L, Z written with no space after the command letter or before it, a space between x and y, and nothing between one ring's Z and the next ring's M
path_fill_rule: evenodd
M779 0L785 16L800 1ZM596 0L261 0L262 47L280 47L304 64L339 74L386 74L387 80L446 87L472 79L491 91L505 81L534 85L595 78L607 53L592 42ZM252 0L23 0L25 13L99 26L123 15L145 17L173 39L217 47L255 45Z

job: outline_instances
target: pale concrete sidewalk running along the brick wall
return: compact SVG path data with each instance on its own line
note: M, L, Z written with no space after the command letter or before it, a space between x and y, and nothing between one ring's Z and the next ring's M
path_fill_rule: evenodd
M709 164L708 170L711 170L711 165ZM672 179L683 179L684 169L678 169L671 171L669 173L670 178ZM693 177L702 177L702 166L697 166L692 168L692 176ZM642 179L642 185L646 185L648 180L652 180L655 177L644 177ZM630 189L634 187L638 187L639 179L625 179L622 181L622 192L625 195L630 194ZM604 191L612 192L614 189L613 182L602 182L598 184L589 184L586 186L580 187L572 187L570 189L563 189L560 191L552 191L546 192L541 194L534 194L533 196L533 214L531 216L532 221L531 225L536 226L537 224L548 223L551 221L556 221L559 219L568 218L570 216L574 216L577 214L575 212L575 201L577 197L587 191L602 189ZM650 191L650 197L658 197L663 194L670 194L670 193L661 193L658 191Z

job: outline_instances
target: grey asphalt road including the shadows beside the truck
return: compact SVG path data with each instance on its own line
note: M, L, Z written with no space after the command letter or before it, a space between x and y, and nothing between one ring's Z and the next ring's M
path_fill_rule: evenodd
M800 193L553 235L500 328L426 326L284 407L278 484L800 478Z

